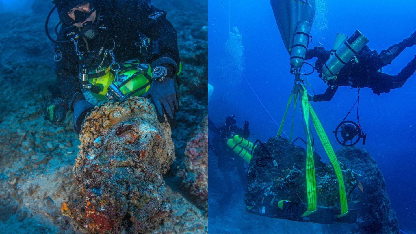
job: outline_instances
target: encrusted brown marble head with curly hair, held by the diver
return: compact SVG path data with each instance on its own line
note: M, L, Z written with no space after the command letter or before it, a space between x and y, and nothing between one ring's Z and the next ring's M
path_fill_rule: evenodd
M96 107L74 166L71 216L89 232L144 232L168 215L163 174L175 158L170 125L140 97Z

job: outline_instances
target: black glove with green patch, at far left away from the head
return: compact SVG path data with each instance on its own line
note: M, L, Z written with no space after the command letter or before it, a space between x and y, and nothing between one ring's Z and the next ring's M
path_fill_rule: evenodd
M45 119L50 122L62 122L67 116L69 107L62 98L57 97L47 101L42 109Z

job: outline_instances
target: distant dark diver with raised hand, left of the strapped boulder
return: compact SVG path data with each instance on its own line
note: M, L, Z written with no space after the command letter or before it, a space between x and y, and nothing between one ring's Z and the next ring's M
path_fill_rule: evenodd
M212 143L209 144L215 156L218 157L218 168L223 173L225 191L220 201L220 208L228 206L233 196L233 183L231 182L230 172L236 168L240 177L243 190L247 189L247 173L245 171L244 160L240 159L235 152L233 152L227 145L227 139L238 135L247 139L250 136L249 122L245 121L243 129L235 125L234 116L229 116L221 127L216 127L215 124L208 118L208 128L215 133L212 138Z

